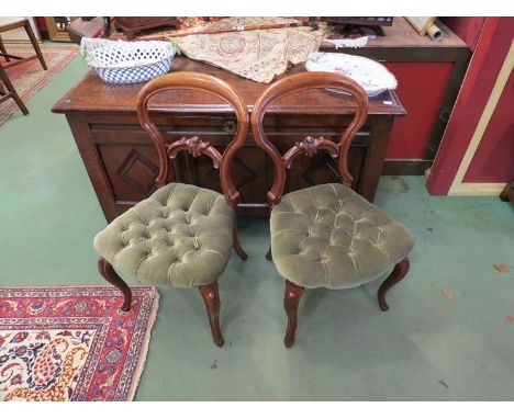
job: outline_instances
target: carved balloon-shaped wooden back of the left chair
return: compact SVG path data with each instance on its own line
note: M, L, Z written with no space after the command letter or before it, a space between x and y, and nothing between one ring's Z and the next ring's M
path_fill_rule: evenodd
M233 140L227 145L223 155L198 136L182 137L171 144L166 144L165 137L148 114L148 101L157 93L167 90L191 90L215 95L227 102L237 117L237 129ZM243 97L226 81L201 72L174 72L145 84L137 97L137 118L157 148L159 158L159 173L156 178L157 188L166 184L168 179L169 160L175 159L179 151L187 151L193 157L201 155L212 159L215 169L220 170L221 186L226 202L236 206L239 193L232 178L232 163L237 150L245 144L248 135L248 107Z

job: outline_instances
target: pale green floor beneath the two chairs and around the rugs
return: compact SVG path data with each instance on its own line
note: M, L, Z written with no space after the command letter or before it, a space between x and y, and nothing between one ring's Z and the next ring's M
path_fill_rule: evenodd
M103 284L92 238L105 220L65 117L49 111L86 71L74 60L29 101L29 116L0 127L0 285ZM429 196L422 177L383 177L376 203L416 237L388 313L375 297L380 281L309 291L297 344L284 349L268 226L244 219L249 259L233 256L221 280L225 347L212 343L198 292L160 290L136 399L512 400L512 206Z

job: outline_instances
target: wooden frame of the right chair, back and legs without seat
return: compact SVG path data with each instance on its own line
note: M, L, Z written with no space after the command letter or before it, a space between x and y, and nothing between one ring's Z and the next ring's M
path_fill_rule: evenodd
M276 101L311 89L337 89L351 94L357 102L354 117L343 132L337 143L323 137L314 138L312 136L306 136L302 141L297 143L282 156L277 147L268 139L264 131L262 121L266 115L266 111L270 104ZM365 124L367 116L368 95L366 91L353 79L339 73L323 71L302 72L284 77L266 89L254 105L252 113L252 131L257 146L264 149L273 162L273 182L271 184L271 189L267 193L269 206L272 208L275 205L280 203L286 185L286 169L291 168L294 158L300 155L313 157L319 150L327 151L334 159L338 160L340 181L343 185L350 188L353 177L348 170L348 151L351 140ZM271 259L271 248L268 250L266 258ZM409 259L405 258L394 267L392 273L380 286L378 291L378 301L382 310L386 312L389 309L388 304L386 303L386 293L394 284L401 281L407 271ZM290 348L294 343L298 306L303 293L303 286L297 285L291 281L286 281L283 305L288 316L288 328L284 336L284 344L287 348Z

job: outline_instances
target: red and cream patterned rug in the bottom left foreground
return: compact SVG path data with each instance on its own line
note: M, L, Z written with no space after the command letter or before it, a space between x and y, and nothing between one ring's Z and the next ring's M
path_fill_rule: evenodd
M0 287L0 400L132 400L159 299L132 290Z

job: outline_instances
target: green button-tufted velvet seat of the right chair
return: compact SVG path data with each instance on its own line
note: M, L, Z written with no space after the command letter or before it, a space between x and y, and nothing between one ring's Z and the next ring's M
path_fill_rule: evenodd
M284 279L350 288L372 281L411 251L401 224L338 183L291 192L271 212L271 253Z

